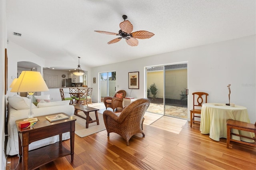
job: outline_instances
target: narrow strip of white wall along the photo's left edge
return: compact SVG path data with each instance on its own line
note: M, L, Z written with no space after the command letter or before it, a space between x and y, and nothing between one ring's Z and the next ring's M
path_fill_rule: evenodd
M5 49L7 48L7 24L6 24L6 1L0 0L0 169L6 167L6 157L4 153L4 127L6 118L6 95L4 95L4 61ZM8 51L7 51L8 52ZM8 77L10 77L8 75ZM10 85L8 83L8 85Z

